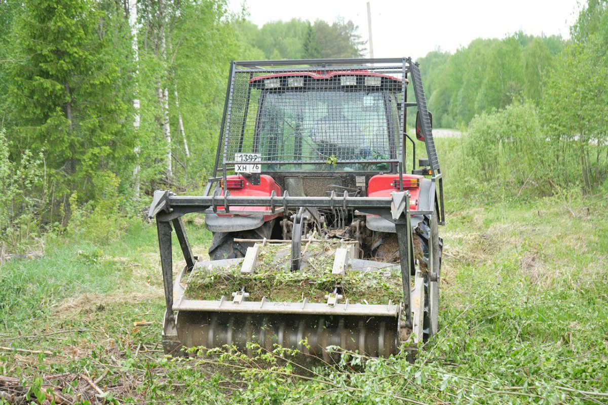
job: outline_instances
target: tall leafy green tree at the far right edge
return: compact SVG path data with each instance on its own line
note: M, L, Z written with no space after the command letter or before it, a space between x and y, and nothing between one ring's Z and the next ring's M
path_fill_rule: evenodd
M586 191L608 174L608 3L591 0L548 75L542 103L556 181ZM567 69L564 69L567 67Z

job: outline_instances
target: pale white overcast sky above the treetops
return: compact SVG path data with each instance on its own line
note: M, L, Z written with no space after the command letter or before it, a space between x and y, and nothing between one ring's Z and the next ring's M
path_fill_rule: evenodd
M473 39L503 38L523 30L533 35L561 35L579 9L577 0L370 0L374 56L426 55L440 47L454 52ZM241 10L243 0L229 0ZM258 26L269 21L302 18L334 21L351 19L368 39L367 0L246 0L250 20Z

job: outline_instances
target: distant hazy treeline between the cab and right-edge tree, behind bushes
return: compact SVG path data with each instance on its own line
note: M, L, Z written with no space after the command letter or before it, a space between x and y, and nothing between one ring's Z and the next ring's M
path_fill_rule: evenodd
M522 97L538 104L545 70L562 47L557 36L518 32L504 39L475 39L454 55L435 51L420 58L437 126L468 124L476 114L503 108Z

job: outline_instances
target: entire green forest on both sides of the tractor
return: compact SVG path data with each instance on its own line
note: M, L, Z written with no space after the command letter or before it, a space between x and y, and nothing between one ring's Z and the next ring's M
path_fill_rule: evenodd
M466 176L474 190L604 181L606 9L589 0L567 41L516 33L419 59L435 126L470 124L460 153L483 168ZM0 1L2 249L75 219L119 222L156 188L204 185L230 60L365 46L352 21L258 27L226 0Z

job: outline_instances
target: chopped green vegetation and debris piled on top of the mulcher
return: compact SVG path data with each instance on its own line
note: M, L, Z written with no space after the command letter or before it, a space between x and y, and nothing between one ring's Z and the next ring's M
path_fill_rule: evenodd
M401 298L401 273L398 267L351 270L332 274L334 252L339 243L311 243L303 254L302 271L291 271L290 245L266 245L260 252L253 274L242 274L241 264L225 268L199 268L188 279L185 294L188 299L213 300L245 287L249 299L260 301L325 301L336 285L350 302L386 304Z

